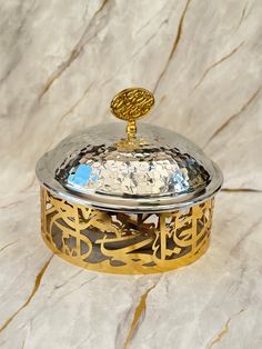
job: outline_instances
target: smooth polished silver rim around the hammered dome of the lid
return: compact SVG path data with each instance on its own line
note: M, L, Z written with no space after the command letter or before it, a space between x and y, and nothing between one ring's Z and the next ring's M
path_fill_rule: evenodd
M120 198L114 196L104 196L93 193L90 196L81 196L62 187L56 181L48 169L48 156L44 154L37 163L37 177L40 183L47 188L53 196L67 200L69 202L92 207L107 211L122 212L164 212L178 210L181 208L199 205L212 198L220 189L223 182L223 176L216 163L212 161L213 173L210 183L199 193L187 193L178 197L160 197L160 198Z

